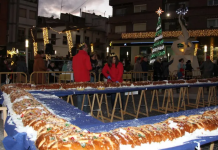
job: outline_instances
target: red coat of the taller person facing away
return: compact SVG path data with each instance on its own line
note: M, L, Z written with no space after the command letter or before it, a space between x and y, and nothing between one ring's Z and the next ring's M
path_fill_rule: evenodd
M87 52L80 50L79 53L73 57L72 69L76 82L90 81L90 70L92 70L92 66Z

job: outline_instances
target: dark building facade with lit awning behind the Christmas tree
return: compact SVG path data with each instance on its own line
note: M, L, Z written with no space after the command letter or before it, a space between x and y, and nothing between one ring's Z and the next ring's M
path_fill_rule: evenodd
M190 40L198 49L204 45L214 50L218 47L215 42L218 41L216 0L110 0L110 5L113 7L113 17L109 19L111 31L108 38L113 43L111 52L120 56L121 60L128 58L133 64L135 56L151 53L158 21L155 11L159 7L164 11L161 18L166 54L174 55L171 45L178 37L175 33L180 31L176 10L182 5L189 8L184 18L187 29L199 33L197 36L192 34Z

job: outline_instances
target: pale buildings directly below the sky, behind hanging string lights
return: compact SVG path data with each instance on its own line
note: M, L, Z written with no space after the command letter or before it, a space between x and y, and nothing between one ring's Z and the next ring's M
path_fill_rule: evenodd
M96 16L82 12L81 17L71 14L61 14L60 19L44 18L46 26L52 27L48 31L48 37L56 51L56 56L66 57L69 52L68 40L65 31L71 30L72 42L78 49L78 45L86 42L90 48L89 53L96 52L101 56L105 56L107 42L107 21L108 18ZM43 26L42 22L38 22L39 26ZM62 32L63 33L58 33ZM42 32L37 33L37 38L43 38ZM91 45L93 49L91 50ZM44 49L43 41L38 43L38 49Z

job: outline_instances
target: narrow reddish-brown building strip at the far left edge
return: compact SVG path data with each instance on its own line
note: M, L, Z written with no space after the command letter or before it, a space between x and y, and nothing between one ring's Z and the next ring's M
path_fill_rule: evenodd
M6 55L8 41L8 1L0 0L0 55Z

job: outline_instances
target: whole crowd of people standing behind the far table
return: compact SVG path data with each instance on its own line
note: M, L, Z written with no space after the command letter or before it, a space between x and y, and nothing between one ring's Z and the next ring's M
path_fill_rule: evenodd
M34 58L33 71L39 72L34 74L33 80L35 84L47 83L57 83L59 74L52 73L55 71L62 72L71 72L73 71L74 81L75 82L95 82L98 81L99 73L102 72L104 78L107 79L107 82L122 82L123 73L125 66L128 65L126 61L121 62L116 55L108 56L107 61L100 59L95 53L90 56L87 53L88 47L86 44L80 47L79 52L73 57L67 57L64 61L50 61L49 64L46 64L44 61L44 51L38 51L37 55ZM157 58L153 64L153 80L168 80L169 78L169 66L174 62L174 59L168 61L168 59ZM27 73L27 67L25 63L25 58L23 56L15 56L11 59L10 57L0 57L0 71L1 72L24 72ZM187 74L187 72L192 72L194 68L191 65L191 61L188 60L186 63L184 59L181 58L178 62L178 79L191 78L192 75ZM199 68L203 71L203 77L209 78L211 76L218 76L218 66L216 61L211 62L210 57L207 57L207 60L200 65ZM142 72L142 74L135 74L133 78L136 80L141 80L144 77L147 77L147 72L151 70L148 58L137 58L134 65L134 72ZM45 76L44 73L40 71L49 71L48 76ZM94 72L95 75L90 75L91 72ZM143 73L144 72L144 73ZM15 78L15 79L13 79ZM1 75L1 84L7 84L11 81L25 82L25 77L22 74L16 76L6 76ZM121 94L123 98L123 94ZM82 108L83 95L77 96L78 108ZM111 95L111 105L114 106L115 94ZM88 97L85 97L84 106L88 106ZM84 111L87 111L87 107L84 107Z

